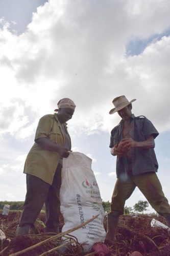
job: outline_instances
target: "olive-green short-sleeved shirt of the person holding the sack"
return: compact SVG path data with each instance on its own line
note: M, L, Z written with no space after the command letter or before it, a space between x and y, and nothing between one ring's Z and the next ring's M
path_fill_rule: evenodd
M66 123L64 126L67 129ZM65 136L57 114L45 115L40 118L35 140L39 138L47 138L61 146L64 145ZM59 158L60 155L57 152L43 150L35 142L27 156L23 173L34 175L52 184Z

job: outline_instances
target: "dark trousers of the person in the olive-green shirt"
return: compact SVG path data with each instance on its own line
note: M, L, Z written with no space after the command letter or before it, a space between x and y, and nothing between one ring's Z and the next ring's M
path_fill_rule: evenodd
M20 217L20 227L25 225L34 226L44 203L46 227L55 228L59 226L61 169L62 165L58 164L52 185L36 176L27 174L27 194Z

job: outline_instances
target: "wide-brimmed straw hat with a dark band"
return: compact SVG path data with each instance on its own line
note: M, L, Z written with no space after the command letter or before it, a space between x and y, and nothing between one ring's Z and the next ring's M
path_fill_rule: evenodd
M114 114L115 112L122 110L123 108L125 108L125 106L129 105L130 103L132 103L133 101L135 101L136 99L132 99L131 101L129 101L125 95L122 96L118 96L116 98L113 99L112 103L115 106L114 109L111 109L109 114Z

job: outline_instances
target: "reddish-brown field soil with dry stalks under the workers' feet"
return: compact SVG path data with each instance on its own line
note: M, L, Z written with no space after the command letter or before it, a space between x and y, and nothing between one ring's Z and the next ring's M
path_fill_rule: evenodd
M15 238L15 230L19 222L19 217L20 211L10 211L8 216L3 216L2 212L0 212L0 229L3 230L7 237L7 239L2 242L0 240L0 255L6 256L14 254L15 252L17 252L15 255L19 255L19 251L31 247L32 245L36 245L46 239L53 238L52 234L45 234L43 232L45 223L45 214L43 213L39 215L36 221L36 234L34 233L29 234L29 236L26 237ZM157 217L155 215L140 215L139 217L132 217L129 215L121 216L116 233L116 242L108 245L110 252L107 255L129 256L133 251L139 251L143 256L170 255L170 239L168 237L168 232L163 228L151 227L151 220L153 218L166 224L162 217ZM105 218L105 229L106 222L107 220ZM60 218L60 223L61 229L63 225L62 216ZM9 242L8 239L11 241ZM71 242L72 240L70 239L74 239L75 244L68 244L68 248L60 255L94 255L91 251L84 253L82 246L77 242L76 238L66 236L66 243ZM59 255L55 248L60 245L60 242L60 238L46 241L40 246L30 249L21 255Z

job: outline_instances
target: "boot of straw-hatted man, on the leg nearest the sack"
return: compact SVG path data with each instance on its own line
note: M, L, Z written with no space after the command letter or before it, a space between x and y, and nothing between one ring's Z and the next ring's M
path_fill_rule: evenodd
M116 241L115 233L116 233L117 226L118 226L118 220L119 220L119 216L113 215L111 213L108 214L107 233L106 233L105 243Z

